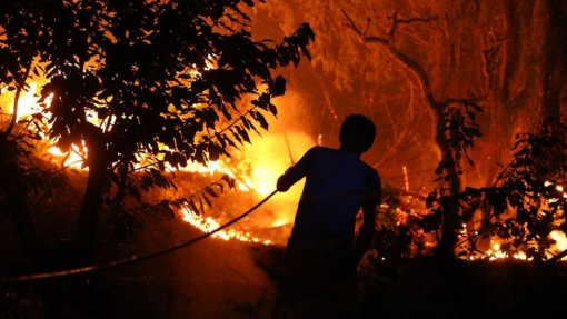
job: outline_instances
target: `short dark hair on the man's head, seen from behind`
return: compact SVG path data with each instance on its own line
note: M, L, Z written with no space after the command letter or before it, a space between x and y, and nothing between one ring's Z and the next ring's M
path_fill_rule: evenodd
M375 138L375 123L362 114L350 114L340 126L339 141L346 149L366 152L372 146Z

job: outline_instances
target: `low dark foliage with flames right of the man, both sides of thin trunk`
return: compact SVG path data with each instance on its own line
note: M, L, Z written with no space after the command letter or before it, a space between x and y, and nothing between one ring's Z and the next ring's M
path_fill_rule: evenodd
M567 128L557 123L553 130L543 127L538 133L518 133L511 147L513 158L493 186L466 187L455 196L437 189L426 198L426 215L411 213L411 208L399 200L401 196L391 193L387 210L380 213L391 219L399 216L399 210L407 217L390 221L381 218L384 227L377 231L375 263L396 268L404 259L427 253L424 233L441 229L446 201L458 208L455 217L460 241L455 249L459 258L494 258L493 239L499 242L506 258L525 256L535 262L553 262L567 256L567 251L553 248L556 240L551 236L553 231L567 231L567 196L563 188L566 133Z

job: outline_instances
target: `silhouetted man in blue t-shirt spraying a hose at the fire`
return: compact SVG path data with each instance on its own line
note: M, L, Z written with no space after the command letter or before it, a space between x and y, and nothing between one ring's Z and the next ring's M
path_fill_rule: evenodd
M380 176L360 157L376 137L361 114L341 124L339 149L314 147L278 179L287 191L306 183L282 262L273 318L351 318L356 269L370 246L380 203ZM364 221L356 232L356 216Z

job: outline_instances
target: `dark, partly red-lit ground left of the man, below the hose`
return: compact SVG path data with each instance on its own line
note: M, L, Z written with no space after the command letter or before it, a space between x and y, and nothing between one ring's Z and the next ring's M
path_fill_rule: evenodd
M201 235L180 220L153 221L145 226L136 243L107 248L107 258L100 260L158 251ZM251 243L209 238L169 255L108 270L0 283L0 319L266 318L273 285L255 263L252 253L257 252ZM2 261L3 269L18 272L6 265L6 259Z

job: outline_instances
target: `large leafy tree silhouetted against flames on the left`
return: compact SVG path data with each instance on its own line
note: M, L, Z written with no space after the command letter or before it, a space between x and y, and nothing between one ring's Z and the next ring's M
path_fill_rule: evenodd
M47 189L52 180L31 175L23 162L31 144L17 130L18 103L33 78L44 81L42 109L26 126L47 124L47 137L63 152L79 150L88 168L73 245L84 262L103 207L119 213L128 193L175 187L163 175L167 168L229 156L231 147L250 141L251 131L268 129L266 114L277 114L271 99L286 91L275 70L310 58L314 33L304 23L280 43L253 40L246 12L255 2L61 0L2 7L0 88L2 94L13 92L14 102L1 134L8 156L0 200L30 255L39 242L26 199L30 185Z

